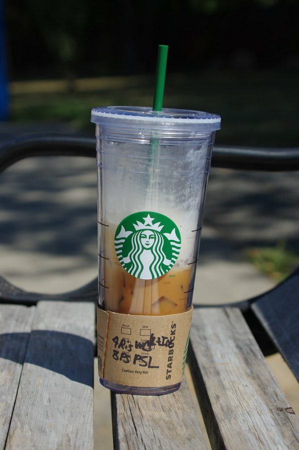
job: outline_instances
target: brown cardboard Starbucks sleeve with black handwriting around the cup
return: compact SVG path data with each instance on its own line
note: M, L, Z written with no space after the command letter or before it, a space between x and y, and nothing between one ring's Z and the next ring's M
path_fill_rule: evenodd
M132 315L97 306L100 378L125 386L162 387L182 381L193 306L170 315Z

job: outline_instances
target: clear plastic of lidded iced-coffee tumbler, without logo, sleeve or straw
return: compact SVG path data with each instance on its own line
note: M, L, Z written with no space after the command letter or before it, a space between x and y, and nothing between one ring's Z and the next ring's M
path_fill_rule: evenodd
M164 315L192 304L206 187L220 117L200 111L95 108L98 172L99 305L110 311ZM181 248L167 273L134 277L115 252L118 224L153 211L178 227ZM161 394L179 387L144 388L101 380L116 391Z

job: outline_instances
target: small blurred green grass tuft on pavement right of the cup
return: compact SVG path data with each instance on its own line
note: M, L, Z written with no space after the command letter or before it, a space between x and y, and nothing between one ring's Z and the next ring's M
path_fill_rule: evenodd
M285 242L273 247L250 248L247 256L261 272L280 282L299 265L299 253L286 248Z

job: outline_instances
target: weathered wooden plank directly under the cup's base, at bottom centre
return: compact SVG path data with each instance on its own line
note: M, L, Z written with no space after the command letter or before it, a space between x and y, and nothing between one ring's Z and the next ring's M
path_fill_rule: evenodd
M114 447L119 450L201 450L206 445L184 379L162 396L111 393Z

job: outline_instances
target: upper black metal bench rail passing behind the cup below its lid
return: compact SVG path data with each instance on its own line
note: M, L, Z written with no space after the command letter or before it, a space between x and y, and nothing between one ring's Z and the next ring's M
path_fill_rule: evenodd
M0 171L29 156L95 157L95 138L29 134L0 144ZM215 145L212 166L244 170L299 170L299 147L264 148Z

